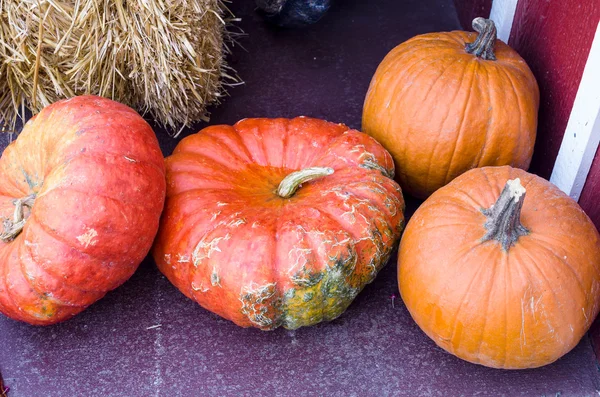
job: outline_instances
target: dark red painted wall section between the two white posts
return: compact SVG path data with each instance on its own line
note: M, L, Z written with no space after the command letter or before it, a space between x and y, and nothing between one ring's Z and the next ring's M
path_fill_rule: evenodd
M600 19L596 0L519 0L509 44L540 86L538 138L531 171L549 178Z

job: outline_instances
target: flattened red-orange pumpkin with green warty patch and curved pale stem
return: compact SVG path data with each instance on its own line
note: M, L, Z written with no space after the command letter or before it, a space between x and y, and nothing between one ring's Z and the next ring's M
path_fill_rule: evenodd
M403 226L391 156L341 124L211 126L183 139L166 167L156 263L188 298L242 327L338 317Z

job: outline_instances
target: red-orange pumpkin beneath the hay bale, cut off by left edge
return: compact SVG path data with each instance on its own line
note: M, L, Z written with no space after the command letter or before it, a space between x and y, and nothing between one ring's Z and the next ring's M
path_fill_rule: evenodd
M165 185L156 136L132 109L93 96L44 108L0 159L0 311L53 324L125 282Z

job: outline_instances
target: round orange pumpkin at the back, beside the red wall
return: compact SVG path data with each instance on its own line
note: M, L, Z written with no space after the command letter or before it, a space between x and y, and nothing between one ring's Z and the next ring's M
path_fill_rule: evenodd
M525 61L496 40L491 20L470 32L428 33L394 48L377 68L363 131L388 149L402 189L425 198L475 167L527 169L539 90Z

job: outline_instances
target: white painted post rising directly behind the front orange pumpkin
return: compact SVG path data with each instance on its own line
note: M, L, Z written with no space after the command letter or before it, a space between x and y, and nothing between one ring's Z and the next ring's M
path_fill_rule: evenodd
M596 28L573 110L550 182L579 200L600 142L600 23Z

